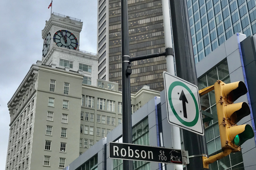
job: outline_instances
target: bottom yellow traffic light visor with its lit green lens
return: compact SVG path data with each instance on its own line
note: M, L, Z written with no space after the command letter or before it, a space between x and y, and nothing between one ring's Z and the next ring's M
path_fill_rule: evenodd
M236 146L241 146L245 141L254 137L254 133L249 124L232 126L229 129L229 137Z

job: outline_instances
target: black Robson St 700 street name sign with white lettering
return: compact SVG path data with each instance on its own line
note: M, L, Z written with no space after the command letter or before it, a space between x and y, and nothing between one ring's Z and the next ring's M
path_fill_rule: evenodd
M187 165L187 152L138 144L109 142L109 158Z

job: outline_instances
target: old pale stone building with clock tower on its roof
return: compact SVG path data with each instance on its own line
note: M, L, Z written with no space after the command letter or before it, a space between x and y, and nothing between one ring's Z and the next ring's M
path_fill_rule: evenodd
M122 93L97 79L97 55L78 50L81 30L80 20L65 15L46 21L42 61L8 102L5 170L64 168L122 123ZM132 113L154 96L160 92L148 86L132 94Z

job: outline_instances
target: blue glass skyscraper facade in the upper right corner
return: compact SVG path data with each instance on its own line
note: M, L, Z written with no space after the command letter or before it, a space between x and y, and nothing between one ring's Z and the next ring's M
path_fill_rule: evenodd
M195 62L235 33L256 33L255 0L187 0Z

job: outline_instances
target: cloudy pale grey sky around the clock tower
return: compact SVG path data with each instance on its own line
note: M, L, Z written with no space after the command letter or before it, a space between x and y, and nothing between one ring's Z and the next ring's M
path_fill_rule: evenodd
M79 49L97 52L97 2L53 0L52 12L83 22ZM0 5L0 170L4 170L9 137L8 101L30 66L42 59L42 30L51 0L2 0Z

